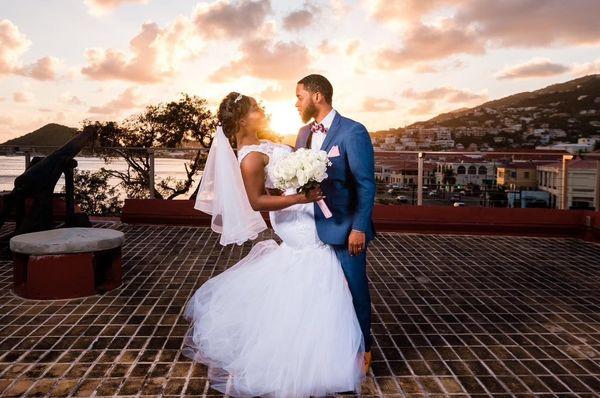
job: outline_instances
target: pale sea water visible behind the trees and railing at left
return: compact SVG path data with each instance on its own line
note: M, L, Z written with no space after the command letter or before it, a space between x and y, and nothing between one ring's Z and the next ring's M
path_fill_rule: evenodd
M77 157L78 166L77 170L85 171L98 171L101 167L126 171L127 163L123 159L116 159L113 162L105 163L103 159L96 157ZM154 177L155 182L158 182L162 178L173 177L177 180L185 180L185 168L184 159L172 159L172 158L157 158L155 160L155 171ZM0 191L11 191L14 186L15 178L21 175L25 171L25 157L24 156L0 156ZM201 172L198 173L197 178L194 179L194 185L190 189L188 195L181 195L177 199L186 199L191 195L196 185L200 182ZM111 184L118 184L118 179L110 179ZM61 177L54 192L61 192L64 186L64 177Z

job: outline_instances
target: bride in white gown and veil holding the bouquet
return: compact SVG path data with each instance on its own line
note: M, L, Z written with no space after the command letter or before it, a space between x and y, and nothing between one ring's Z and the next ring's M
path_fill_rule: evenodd
M266 229L259 211L269 211L282 243L256 243L195 292L184 354L234 397L358 392L364 341L340 263L317 236L320 190L275 194L269 166L292 149L257 138L266 118L253 98L230 93L218 120L195 207L212 215L223 245L255 239Z

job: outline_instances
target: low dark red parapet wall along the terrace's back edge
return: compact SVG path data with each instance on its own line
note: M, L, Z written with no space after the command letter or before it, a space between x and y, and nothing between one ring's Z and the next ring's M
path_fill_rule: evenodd
M210 225L210 216L193 205L191 200L127 199L121 220ZM587 210L376 205L373 220L381 232L571 236L600 241L600 212Z

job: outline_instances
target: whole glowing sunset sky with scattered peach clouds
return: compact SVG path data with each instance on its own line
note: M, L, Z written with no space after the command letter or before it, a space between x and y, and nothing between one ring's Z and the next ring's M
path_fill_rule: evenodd
M321 73L369 130L600 73L598 0L0 0L0 142L119 120L180 92L301 125Z

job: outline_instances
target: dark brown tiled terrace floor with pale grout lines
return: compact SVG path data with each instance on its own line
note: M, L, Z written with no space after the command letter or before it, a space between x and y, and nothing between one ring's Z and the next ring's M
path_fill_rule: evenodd
M1 243L0 395L219 395L180 354L180 315L250 246L222 248L207 228L97 226L126 233L124 284L103 296L16 297ZM369 277L375 362L363 395L600 393L600 245L382 233Z

